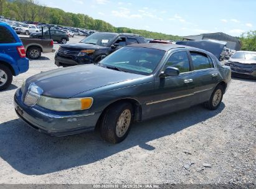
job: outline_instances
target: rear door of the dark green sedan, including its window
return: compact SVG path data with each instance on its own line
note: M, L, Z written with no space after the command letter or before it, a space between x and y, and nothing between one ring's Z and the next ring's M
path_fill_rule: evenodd
M211 57L206 53L190 51L189 55L192 62L192 80L194 83L192 104L199 104L209 100L220 75Z

